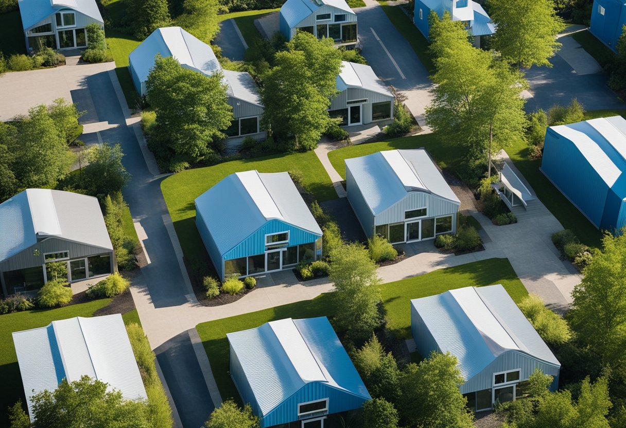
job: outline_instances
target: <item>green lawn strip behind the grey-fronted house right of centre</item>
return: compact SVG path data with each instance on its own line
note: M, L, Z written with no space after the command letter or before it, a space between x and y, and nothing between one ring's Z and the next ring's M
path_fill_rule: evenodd
M328 158L339 175L345 179L346 164L344 160L346 159L371 155L377 151L415 148L425 148L437 161L440 168L448 167L454 169L461 162L459 150L450 150L449 146L443 145L441 140L434 134L414 135L378 143L348 146L330 151Z

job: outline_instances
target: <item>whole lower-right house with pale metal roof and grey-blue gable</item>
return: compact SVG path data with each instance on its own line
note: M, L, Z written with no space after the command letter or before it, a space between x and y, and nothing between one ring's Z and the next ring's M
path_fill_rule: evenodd
M456 357L461 393L475 411L515 400L536 369L552 375L557 390L560 362L499 284L411 300L411 332L423 357Z

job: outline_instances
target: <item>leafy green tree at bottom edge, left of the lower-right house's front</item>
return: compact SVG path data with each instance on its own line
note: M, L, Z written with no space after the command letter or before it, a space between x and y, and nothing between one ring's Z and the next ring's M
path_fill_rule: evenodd
M472 428L473 415L465 407L459 386L464 380L456 357L433 352L419 364L408 364L400 384L401 422L413 428Z

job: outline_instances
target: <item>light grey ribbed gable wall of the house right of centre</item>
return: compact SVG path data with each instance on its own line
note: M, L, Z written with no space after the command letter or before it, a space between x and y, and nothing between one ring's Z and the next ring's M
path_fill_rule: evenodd
M408 193L406 198L377 215L376 219L374 219L374 224L386 225L404 222L404 211L416 210L418 208L424 208L424 206L427 208L426 217L452 215L453 232L456 232L456 213L459 210L459 205L423 191Z

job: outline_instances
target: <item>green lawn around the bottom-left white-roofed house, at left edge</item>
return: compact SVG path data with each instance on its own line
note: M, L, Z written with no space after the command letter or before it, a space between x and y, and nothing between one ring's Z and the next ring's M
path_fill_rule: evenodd
M91 317L96 310L111 302L110 298L70 305L57 309L29 310L0 315L0 426L8 426L6 408L18 399L24 399L18 357L11 333L45 327L54 320L72 317Z

